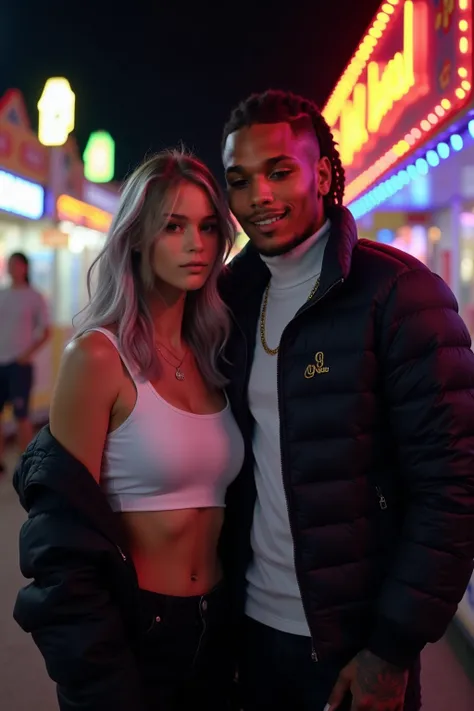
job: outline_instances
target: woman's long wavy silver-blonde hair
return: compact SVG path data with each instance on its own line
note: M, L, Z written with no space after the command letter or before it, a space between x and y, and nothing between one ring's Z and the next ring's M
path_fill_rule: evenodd
M222 387L226 381L218 359L229 334L230 318L219 296L217 279L234 243L235 226L211 171L184 150L158 153L126 180L106 244L88 273L89 303L79 314L76 336L90 328L116 324L124 358L144 378L159 372L145 295L154 284L153 246L166 224L163 212L168 192L183 182L206 192L216 213L219 240L217 258L205 285L186 295L183 336L205 380Z

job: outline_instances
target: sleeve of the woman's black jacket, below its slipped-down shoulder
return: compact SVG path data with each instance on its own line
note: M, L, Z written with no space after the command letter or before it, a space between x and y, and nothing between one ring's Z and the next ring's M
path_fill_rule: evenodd
M77 525L58 512L30 518L20 536L20 567L33 581L14 617L32 634L61 711L142 711L136 663L99 561L79 543Z

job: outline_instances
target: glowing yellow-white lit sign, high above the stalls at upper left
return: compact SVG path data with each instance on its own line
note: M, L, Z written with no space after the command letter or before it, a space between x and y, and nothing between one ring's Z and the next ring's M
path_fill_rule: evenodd
M38 102L38 138L44 146L63 146L74 129L76 97L63 77L48 79Z

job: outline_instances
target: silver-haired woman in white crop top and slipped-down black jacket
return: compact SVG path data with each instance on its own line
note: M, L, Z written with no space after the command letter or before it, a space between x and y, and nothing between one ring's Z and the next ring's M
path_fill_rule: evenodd
M217 368L217 278L233 236L195 158L161 153L129 178L50 428L17 471L34 582L15 618L62 711L226 708L217 543L244 445Z

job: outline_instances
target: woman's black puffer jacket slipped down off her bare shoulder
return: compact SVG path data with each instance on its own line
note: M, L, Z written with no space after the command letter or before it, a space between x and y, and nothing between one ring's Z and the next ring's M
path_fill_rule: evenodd
M144 711L134 656L135 568L118 518L87 469L44 428L15 472L28 520L20 567L33 578L14 617L39 647L61 711Z

